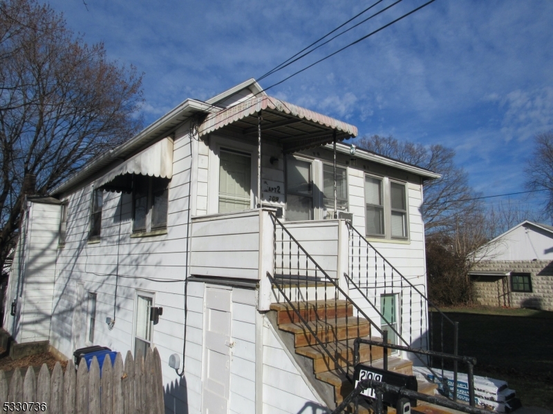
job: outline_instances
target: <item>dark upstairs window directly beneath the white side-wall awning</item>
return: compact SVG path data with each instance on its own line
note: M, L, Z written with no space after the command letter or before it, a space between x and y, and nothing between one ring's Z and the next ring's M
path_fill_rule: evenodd
M167 227L169 180L147 175L133 177L133 232Z

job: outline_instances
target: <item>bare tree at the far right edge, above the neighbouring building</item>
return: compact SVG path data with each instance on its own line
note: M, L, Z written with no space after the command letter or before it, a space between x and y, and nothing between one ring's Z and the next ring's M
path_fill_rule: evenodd
M553 131L536 135L534 145L525 168L526 186L529 190L547 192L544 210L553 217Z

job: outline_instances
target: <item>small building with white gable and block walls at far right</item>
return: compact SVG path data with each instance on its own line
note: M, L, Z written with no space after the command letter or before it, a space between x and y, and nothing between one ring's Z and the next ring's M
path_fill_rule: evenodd
M469 275L479 304L553 311L553 226L510 228L482 246Z

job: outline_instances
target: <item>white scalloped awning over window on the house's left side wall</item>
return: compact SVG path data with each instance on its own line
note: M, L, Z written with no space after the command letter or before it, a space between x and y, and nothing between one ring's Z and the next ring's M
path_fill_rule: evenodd
M123 161L94 182L94 188L129 193L132 175L148 175L171 179L173 177L173 140L166 137L137 155Z

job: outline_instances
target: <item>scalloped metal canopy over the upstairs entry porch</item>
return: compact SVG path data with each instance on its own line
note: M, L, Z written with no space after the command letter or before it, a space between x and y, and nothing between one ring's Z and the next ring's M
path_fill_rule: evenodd
M256 139L257 115L261 112L261 137L283 146L283 152L294 152L357 136L353 125L280 99L262 96L247 99L236 106L207 115L198 128L200 136L223 127L232 128L245 138Z

